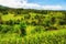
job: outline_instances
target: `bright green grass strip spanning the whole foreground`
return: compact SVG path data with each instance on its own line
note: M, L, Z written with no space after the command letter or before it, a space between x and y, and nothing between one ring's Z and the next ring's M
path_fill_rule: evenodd
M47 31L24 37L16 33L0 34L0 44L66 44L66 30Z

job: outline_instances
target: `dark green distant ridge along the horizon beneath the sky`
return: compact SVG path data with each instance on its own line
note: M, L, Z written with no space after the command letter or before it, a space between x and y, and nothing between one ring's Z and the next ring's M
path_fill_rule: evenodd
M15 13L29 13L29 12L34 12L34 13L42 13L42 14L46 14L50 12L66 12L66 11L62 11L62 10L36 10L36 9L23 9L23 8L9 8L9 7L4 7L4 6L0 6L0 12L15 12Z

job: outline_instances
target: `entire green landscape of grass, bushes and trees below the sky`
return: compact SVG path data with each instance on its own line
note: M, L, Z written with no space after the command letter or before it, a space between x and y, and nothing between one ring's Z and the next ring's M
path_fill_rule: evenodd
M0 44L66 44L66 11L0 7Z

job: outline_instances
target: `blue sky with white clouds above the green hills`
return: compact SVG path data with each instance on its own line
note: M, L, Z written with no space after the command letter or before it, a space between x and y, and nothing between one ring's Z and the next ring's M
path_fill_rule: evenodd
M0 0L0 6L23 9L66 10L66 0Z

